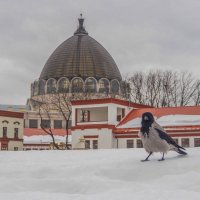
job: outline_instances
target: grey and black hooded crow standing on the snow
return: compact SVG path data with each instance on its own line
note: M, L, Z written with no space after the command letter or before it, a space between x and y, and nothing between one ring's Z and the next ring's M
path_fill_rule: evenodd
M142 140L144 149L149 155L142 161L148 161L149 157L154 152L161 152L164 160L164 154L168 151L176 151L179 154L187 155L183 147L179 146L165 131L155 122L152 113L145 112L142 115L142 127L139 132L139 137Z

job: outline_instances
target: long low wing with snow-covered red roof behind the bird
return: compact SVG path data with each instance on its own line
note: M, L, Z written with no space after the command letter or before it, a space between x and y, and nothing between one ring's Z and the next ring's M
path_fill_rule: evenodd
M138 138L141 116L151 112L155 120L183 147L200 147L200 106L133 109L113 130L117 148L141 148Z

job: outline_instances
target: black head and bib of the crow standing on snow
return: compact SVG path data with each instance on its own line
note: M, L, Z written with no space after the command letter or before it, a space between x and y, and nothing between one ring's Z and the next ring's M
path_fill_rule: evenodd
M154 122L154 117L152 113L150 112L145 112L142 114L142 127L140 131L143 134L149 135L149 128L151 127L152 123Z

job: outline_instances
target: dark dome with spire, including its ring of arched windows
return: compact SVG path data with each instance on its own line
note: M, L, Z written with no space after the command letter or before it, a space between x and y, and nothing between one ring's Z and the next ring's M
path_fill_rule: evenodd
M121 98L122 77L108 51L88 35L79 18L74 35L60 44L47 60L31 97L54 93L90 93L95 98ZM99 96L99 97L97 97Z

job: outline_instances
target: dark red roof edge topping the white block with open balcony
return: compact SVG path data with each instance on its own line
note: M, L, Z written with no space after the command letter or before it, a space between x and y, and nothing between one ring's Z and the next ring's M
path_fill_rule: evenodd
M89 100L76 100L72 101L72 105L90 105L90 104L105 104L115 103L123 106L130 106L133 108L151 108L151 106L129 102L122 99L105 98L105 99L89 99Z

